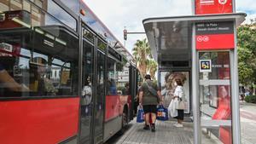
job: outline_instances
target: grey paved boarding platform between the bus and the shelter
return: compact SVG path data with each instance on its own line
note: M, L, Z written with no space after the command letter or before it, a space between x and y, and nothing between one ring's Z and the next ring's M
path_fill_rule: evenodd
M183 128L176 128L173 121L156 122L156 132L143 130L143 124L137 124L136 120L131 122L131 129L125 132L115 144L193 144L193 123L183 123ZM202 143L221 143L211 135L207 138L202 135Z

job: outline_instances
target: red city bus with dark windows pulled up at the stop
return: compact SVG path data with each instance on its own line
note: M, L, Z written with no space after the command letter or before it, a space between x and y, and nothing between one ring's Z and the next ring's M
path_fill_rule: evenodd
M0 1L0 143L103 143L133 118L132 56L64 3Z

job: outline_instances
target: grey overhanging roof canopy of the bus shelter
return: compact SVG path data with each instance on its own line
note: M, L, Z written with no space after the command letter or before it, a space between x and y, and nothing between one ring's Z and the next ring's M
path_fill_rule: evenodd
M143 20L148 43L154 60L159 64L175 61L191 61L192 26L211 21L236 21L241 25L247 14L211 14L177 17L159 17Z

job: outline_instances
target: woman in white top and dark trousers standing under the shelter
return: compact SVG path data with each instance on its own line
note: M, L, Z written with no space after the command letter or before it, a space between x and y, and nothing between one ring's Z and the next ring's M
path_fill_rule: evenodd
M172 101L178 101L177 103L177 124L174 124L177 128L183 127L183 119L184 119L184 109L185 109L185 103L184 103L184 90L183 90L183 83L181 79L175 79L174 85L176 86Z

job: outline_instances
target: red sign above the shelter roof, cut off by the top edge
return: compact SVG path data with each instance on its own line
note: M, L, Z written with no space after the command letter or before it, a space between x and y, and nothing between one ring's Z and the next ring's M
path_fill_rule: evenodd
M195 14L233 13L232 0L195 0Z

